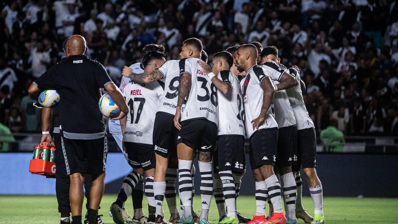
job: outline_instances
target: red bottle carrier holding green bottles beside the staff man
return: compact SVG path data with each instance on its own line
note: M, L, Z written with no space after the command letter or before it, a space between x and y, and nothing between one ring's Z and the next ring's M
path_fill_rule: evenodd
M43 149L49 149L47 143L43 144ZM40 159L41 153L38 153L35 159L30 160L29 172L32 174L43 175L46 178L55 178L55 163Z

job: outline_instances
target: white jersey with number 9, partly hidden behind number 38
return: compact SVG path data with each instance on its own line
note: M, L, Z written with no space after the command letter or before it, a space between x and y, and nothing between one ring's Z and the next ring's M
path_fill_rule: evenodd
M158 111L174 116L178 101L178 86L181 80L179 77L179 60L166 61L156 70L163 74L162 81L164 82L164 93Z

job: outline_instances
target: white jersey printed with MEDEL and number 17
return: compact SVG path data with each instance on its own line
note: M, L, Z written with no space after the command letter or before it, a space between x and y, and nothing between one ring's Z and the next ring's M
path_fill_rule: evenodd
M146 84L133 81L127 84L123 93L129 106L124 141L152 144L155 116L163 92L158 81Z

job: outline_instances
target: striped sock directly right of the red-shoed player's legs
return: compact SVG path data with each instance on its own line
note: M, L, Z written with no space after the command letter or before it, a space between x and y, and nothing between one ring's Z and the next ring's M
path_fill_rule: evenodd
M281 176L283 181L283 201L285 204L286 215L291 219L296 217L296 181L293 173L286 173Z

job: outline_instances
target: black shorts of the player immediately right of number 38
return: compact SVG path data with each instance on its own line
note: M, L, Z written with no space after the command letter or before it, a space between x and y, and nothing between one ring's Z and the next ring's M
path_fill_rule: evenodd
M213 153L214 172L230 170L233 173L242 173L246 168L244 144L244 136L218 136L217 151Z

